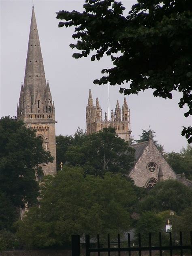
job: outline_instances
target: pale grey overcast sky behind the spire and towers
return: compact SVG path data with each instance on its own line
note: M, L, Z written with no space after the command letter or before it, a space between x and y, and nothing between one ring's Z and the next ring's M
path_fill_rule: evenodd
M94 85L93 80L102 76L102 68L110 67L108 57L91 62L90 57L72 58L74 28L58 28L55 12L60 10L83 10L84 0L34 0L38 34L43 54L46 79L49 80L52 99L55 103L56 135L74 134L77 127L86 129L85 109L88 92L92 90L107 112L108 92L106 85ZM122 0L126 13L136 1ZM1 58L0 58L0 116L16 115L21 82L24 79L32 0L0 0ZM163 58L163 56L162 56ZM134 139L139 139L142 129L149 125L156 131L156 139L166 151L180 151L187 141L181 136L182 126L192 123L183 116L185 109L178 106L181 95L173 93L173 99L153 96L152 90L140 92L138 96L126 96L131 111L131 130ZM110 107L120 106L124 95L119 94L119 85L110 86Z

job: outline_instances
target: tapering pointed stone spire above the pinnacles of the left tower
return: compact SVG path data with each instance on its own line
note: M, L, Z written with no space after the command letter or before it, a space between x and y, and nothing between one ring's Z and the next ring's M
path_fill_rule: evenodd
M27 85L30 87L30 94L33 103L36 102L38 91L43 97L41 100L44 100L44 94L42 92L45 92L46 80L34 8L32 8L26 70L23 86L24 91Z

